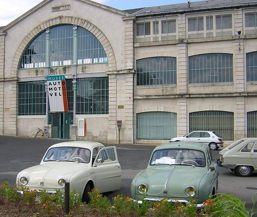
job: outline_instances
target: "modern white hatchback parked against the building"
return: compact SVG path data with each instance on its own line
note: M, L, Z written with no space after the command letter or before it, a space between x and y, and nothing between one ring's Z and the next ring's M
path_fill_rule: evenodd
M207 144L211 150L223 147L222 138L214 131L192 131L182 137L171 138L170 142L202 142Z

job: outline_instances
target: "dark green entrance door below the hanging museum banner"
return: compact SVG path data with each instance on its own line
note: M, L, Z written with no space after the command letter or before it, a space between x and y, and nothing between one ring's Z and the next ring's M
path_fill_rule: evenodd
M51 115L51 135L52 138L70 138L70 119L68 112L52 113Z

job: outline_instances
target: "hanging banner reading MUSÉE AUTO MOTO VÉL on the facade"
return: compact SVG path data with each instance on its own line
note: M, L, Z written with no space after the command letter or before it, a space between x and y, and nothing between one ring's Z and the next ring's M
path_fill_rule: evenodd
M64 75L47 76L48 98L51 112L68 112Z

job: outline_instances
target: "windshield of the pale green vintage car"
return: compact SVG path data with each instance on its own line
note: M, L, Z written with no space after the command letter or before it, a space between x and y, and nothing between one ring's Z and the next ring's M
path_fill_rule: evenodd
M205 154L190 149L163 149L154 152L150 165L192 165L205 167Z

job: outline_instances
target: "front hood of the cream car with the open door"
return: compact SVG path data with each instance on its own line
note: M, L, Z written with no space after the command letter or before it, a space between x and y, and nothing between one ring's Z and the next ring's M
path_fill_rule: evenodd
M26 186L30 188L60 188L58 180L64 178L67 182L75 173L85 173L89 165L75 162L49 162L27 168L18 174L18 180L26 176L29 180ZM86 171L85 171L86 170Z

